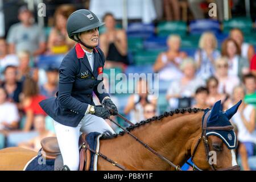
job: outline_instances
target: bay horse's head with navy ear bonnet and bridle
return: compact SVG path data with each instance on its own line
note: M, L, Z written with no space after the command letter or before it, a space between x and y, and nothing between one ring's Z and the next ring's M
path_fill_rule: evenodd
M230 118L236 114L242 101L226 111L222 111L221 101L216 102L212 109L205 110L202 134L193 142L192 160L203 170L239 170L235 150L237 137Z

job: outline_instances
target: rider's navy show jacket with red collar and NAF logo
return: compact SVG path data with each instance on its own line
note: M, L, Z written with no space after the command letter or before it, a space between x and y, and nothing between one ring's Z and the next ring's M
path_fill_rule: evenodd
M51 97L39 103L56 122L76 127L84 117L88 104L95 105L93 92L101 103L105 97L109 97L108 93L99 93L97 89L98 84L103 81L103 78L98 79L98 75L103 72L104 53L98 47L93 49L93 53L92 71L84 50L80 44L76 44L60 64L57 97ZM101 88L104 89L103 83Z

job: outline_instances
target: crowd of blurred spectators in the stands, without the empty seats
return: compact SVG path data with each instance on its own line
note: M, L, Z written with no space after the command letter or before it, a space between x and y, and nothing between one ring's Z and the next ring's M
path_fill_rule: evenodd
M174 17L168 14L175 3L164 1L167 20L180 19L179 11L174 11ZM54 26L47 36L33 21L31 11L22 6L18 15L20 22L11 26L6 39L0 38L0 134L5 136L3 147L19 145L36 151L42 138L54 135L52 119L38 103L56 96L59 72L57 67L48 64L43 69L45 79L42 78L36 59L40 55L65 54L73 48L75 42L68 38L65 28L73 11L75 8L71 5L59 6L54 14ZM125 72L130 64L126 31L117 28L111 13L106 14L103 20L105 31L100 34L100 48L106 57L105 69ZM245 42L239 28L231 30L221 43L212 32L204 32L193 55L181 51L182 43L180 35L168 36L166 51L160 52L151 65L152 71L159 73L160 81L170 83L165 93L166 110L185 107L205 109L218 100L228 109L243 100L232 122L238 129L242 167L249 170L247 159L254 155L256 143L254 46ZM45 81L40 82L42 79ZM112 86L112 80L105 84L107 88ZM148 82L140 79L135 84L137 92L130 94L125 107L119 110L133 123L160 114L158 98L142 92L144 88L148 88ZM116 95L113 98L117 106L118 102L123 102ZM22 137L22 134L25 136L34 131L36 135ZM14 133L19 133L20 138L12 142L9 137Z

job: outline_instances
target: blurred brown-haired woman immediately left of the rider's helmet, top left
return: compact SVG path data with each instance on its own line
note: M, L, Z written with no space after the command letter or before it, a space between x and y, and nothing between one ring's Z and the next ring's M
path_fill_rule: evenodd
M54 27L48 38L48 51L52 54L67 53L69 49L75 46L75 42L68 38L67 19L75 11L72 5L59 6L54 14Z

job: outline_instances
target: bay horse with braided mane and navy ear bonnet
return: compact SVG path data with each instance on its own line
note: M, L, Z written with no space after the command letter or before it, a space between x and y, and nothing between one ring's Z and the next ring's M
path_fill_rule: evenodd
M221 129L222 125L219 124L219 121L225 119L226 122L229 122L240 104L241 102L225 112L222 111L220 101L216 102L211 110L175 109L158 117L141 121L135 126L127 127L127 130L176 165L183 166L193 155L193 163L201 170L234 169L237 166L236 155L234 154L236 147L233 146L234 148L230 149L230 146L227 146L221 136L209 135L206 137L209 151L214 151L217 154L216 164L211 166L205 159L205 140L201 139L204 133L202 121L206 111L208 111L210 114L208 114L207 125L212 123L217 129L218 127ZM223 122L221 121L221 123ZM232 136L236 139L236 135ZM232 136L229 135L229 139ZM100 141L101 154L108 156L126 169L175 170L174 167L152 154L127 133L121 132L110 139ZM237 146L237 141L234 142ZM19 147L0 150L0 170L22 170L27 162L36 155L37 153L34 151ZM97 169L119 170L117 166L113 166L112 163L100 157L98 158Z

